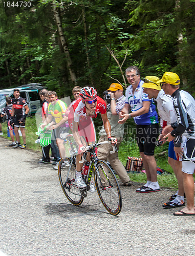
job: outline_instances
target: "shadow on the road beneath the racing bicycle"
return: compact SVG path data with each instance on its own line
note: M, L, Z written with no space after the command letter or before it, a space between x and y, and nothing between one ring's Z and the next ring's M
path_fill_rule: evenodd
M76 218L80 216L93 215L102 218L118 218L118 216L111 215L109 212L101 208L100 204L95 205L80 205L75 206L69 203L49 203L45 205L47 215L58 215L62 218ZM106 214L106 217L105 217Z

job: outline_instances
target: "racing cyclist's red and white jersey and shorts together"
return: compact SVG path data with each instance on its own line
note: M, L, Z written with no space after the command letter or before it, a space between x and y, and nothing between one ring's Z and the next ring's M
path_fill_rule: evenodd
M86 116L85 104L82 102L81 98L77 99L71 106L69 113L68 121L71 130L73 130L73 120L79 122L79 135L84 136L87 142L96 141L95 127L92 118L96 118L98 113L106 113L106 104L102 98L97 96L97 105L93 116Z

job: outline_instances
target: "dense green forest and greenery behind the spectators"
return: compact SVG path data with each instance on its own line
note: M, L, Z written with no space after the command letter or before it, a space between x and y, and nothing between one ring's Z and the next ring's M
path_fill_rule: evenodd
M0 89L41 83L62 98L74 86L89 85L102 96L112 82L125 89L124 71L135 65L142 78L176 72L181 88L194 96L194 30L195 0L2 0ZM125 124L119 152L124 164L128 155L139 156L134 125L131 119ZM155 155L165 169L167 146Z

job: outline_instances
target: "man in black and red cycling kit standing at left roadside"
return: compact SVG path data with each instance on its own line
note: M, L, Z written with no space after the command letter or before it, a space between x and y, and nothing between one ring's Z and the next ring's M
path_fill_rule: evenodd
M16 138L16 144L13 148L26 148L26 133L25 133L25 121L26 117L29 113L29 107L25 99L21 98L19 95L19 90L13 90L14 98L12 99L12 111L11 111L11 119L10 122L14 123L14 133ZM23 145L19 142L19 130L21 131L21 135L23 137Z

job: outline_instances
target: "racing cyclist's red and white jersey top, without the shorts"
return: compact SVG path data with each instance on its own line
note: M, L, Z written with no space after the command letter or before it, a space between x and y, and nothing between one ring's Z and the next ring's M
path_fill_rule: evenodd
M82 99L77 99L72 105L73 111L74 111L74 121L79 122L86 118L86 108L85 104L82 102ZM97 117L97 114L105 114L106 113L106 104L105 101L97 96L97 105L95 109L95 114L90 116L92 118Z

